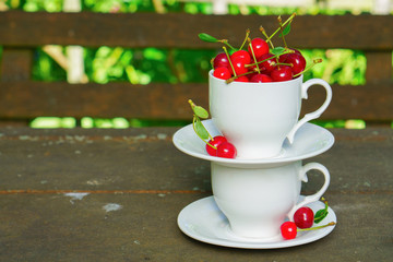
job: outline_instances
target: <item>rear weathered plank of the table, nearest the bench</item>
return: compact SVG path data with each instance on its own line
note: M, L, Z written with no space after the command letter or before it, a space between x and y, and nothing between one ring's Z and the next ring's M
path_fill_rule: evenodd
M178 129L1 128L0 193L211 192L210 162L172 145ZM333 147L305 160L326 166L332 175L329 192L393 192L392 129L330 131ZM302 189L317 190L319 182L321 175L310 171Z

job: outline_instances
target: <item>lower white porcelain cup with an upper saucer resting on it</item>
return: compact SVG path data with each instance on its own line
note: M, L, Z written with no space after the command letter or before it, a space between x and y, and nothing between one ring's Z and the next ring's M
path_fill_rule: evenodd
M324 176L322 188L299 202L301 181L307 171L317 169ZM301 160L248 168L212 162L214 200L229 221L231 231L245 238L272 239L297 209L318 201L330 183L329 170L321 164Z

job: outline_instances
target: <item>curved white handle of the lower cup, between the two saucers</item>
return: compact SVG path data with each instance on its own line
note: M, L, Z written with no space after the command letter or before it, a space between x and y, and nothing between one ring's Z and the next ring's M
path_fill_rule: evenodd
M311 194L311 195L307 195L305 196L305 199L300 202L300 203L297 203L291 210L290 212L288 213L288 218L290 221L294 219L294 214L295 212L303 206L303 205L307 205L309 203L312 203L312 202L315 202L318 200L320 200L322 198L322 195L324 194L324 192L326 191L327 187L329 187L329 183L330 183L330 172L327 170L326 167L324 167L323 165L319 164L319 163L309 163L309 164L306 164L305 166L302 166L299 170L299 178L307 182L308 179L307 179L307 172L311 169L315 169L315 170L319 170L323 174L324 176L324 183L322 186L322 188L314 194Z

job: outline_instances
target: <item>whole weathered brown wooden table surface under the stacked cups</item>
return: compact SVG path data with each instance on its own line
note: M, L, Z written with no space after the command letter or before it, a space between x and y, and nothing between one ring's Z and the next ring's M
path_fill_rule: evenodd
M391 261L393 130L331 130L306 159L331 172L325 238L246 250L183 235L179 212L211 192L210 163L179 152L177 128L0 129L0 261ZM309 172L302 188L320 187Z

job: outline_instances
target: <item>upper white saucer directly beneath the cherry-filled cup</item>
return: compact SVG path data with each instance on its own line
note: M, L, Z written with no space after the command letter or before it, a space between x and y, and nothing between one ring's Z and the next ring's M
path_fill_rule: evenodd
M204 120L203 124L213 136L221 134L214 126L213 120ZM324 128L312 123L305 123L296 132L293 144L289 144L288 141L285 140L283 151L278 156L260 159L229 159L209 155L205 150L205 143L195 134L192 124L188 124L178 130L174 134L172 141L178 150L198 158L234 166L247 165L248 167L252 167L253 165L258 166L261 164L289 163L322 154L332 147L334 136Z

